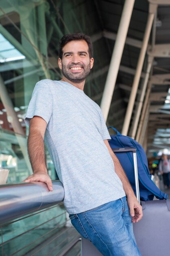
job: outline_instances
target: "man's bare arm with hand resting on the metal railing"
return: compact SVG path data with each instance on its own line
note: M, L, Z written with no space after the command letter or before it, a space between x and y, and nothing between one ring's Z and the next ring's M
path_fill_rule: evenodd
M24 182L41 181L45 182L48 189L52 191L52 181L48 176L44 152L44 134L46 121L38 116L30 120L28 135L28 154L33 168L33 175L27 177Z

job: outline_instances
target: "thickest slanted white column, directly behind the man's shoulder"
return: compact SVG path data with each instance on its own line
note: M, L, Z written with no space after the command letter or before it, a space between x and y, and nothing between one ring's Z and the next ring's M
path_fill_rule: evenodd
M121 20L118 28L118 33L116 36L116 42L114 45L113 54L111 56L111 62L110 62L109 71L107 74L105 89L102 95L102 101L100 105L105 121L107 121L107 116L109 113L111 99L112 99L113 91L116 84L116 79L118 75L120 61L122 58L127 31L129 28L129 23L131 20L134 2L135 0L125 0L122 16L121 16Z

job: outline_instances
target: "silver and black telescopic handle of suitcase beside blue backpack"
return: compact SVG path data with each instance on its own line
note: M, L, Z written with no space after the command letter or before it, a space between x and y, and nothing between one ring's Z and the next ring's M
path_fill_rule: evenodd
M139 195L139 180L138 180L138 172L137 172L137 158L136 158L136 148L112 148L114 153L121 153L121 152L133 152L133 163L134 163L134 173L135 173L135 188L136 188L136 197L138 202L140 202L140 195Z

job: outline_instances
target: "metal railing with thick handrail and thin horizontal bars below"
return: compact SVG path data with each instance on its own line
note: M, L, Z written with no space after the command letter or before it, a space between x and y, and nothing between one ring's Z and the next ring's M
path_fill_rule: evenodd
M67 227L62 183L52 183L52 192L43 182L0 186L1 255L39 255L50 245L50 255L54 251L63 256L81 240L73 227ZM80 255L80 251L75 255Z

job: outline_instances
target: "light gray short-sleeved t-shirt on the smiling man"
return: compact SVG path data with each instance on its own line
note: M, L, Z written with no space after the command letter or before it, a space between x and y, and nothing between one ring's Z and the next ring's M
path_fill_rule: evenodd
M110 139L100 107L74 85L44 79L33 91L26 124L42 117L44 141L65 190L68 213L80 213L122 198L122 182L104 139Z

